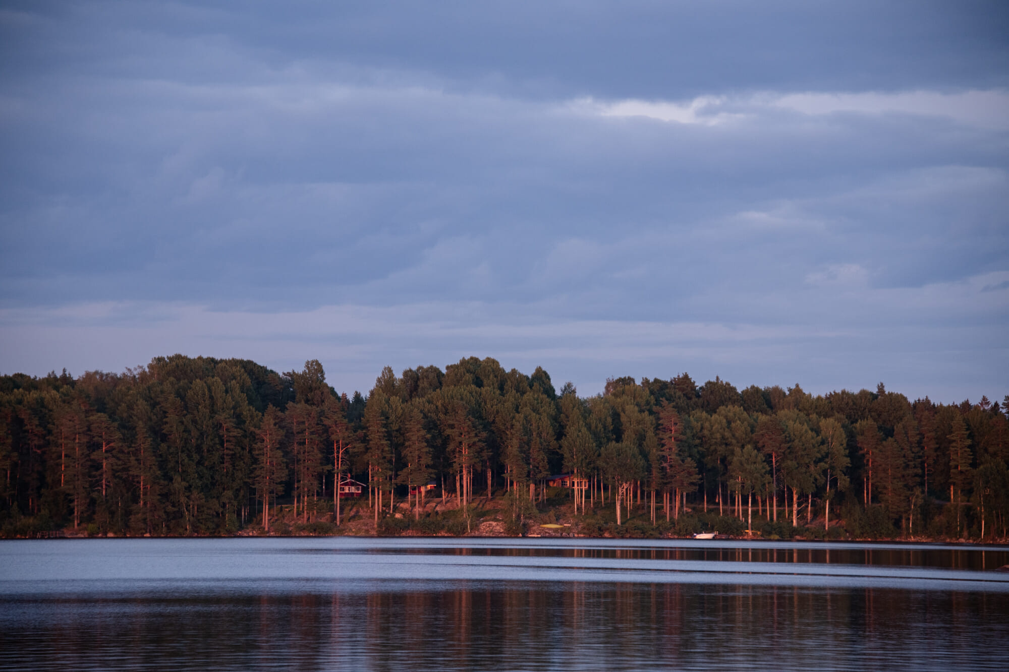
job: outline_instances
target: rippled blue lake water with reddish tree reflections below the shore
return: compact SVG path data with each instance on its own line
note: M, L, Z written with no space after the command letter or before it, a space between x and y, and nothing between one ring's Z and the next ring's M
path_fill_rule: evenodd
M0 670L1009 669L1009 550L0 542Z

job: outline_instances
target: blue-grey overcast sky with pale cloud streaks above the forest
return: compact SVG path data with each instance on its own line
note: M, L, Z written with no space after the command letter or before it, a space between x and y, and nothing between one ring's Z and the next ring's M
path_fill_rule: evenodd
M0 2L0 372L1009 393L1004 2Z

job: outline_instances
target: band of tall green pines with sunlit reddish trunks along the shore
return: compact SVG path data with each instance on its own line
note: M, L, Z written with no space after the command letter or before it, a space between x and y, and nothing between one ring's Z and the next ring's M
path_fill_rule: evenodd
M442 371L385 367L363 397L322 365L157 357L122 374L0 376L6 536L268 530L276 508L341 523L359 481L377 525L404 500L506 496L516 517L567 474L574 512L651 525L684 511L859 536L1006 537L1004 407L887 391L739 390L686 373L559 391L542 368L470 357ZM424 486L436 489L425 495ZM402 507L401 507L402 508Z

